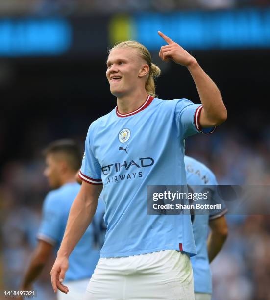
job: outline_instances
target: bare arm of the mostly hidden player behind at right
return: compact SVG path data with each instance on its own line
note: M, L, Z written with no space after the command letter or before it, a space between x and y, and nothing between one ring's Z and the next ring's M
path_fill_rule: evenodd
M209 262L220 252L223 244L228 236L228 227L225 216L209 221L211 232L207 240L208 258Z

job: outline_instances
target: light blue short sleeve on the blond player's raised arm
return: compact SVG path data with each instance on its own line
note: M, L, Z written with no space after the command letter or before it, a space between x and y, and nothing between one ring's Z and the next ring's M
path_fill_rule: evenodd
M185 98L177 100L175 120L179 133L183 139L199 132L209 134L216 129L215 127L203 129L200 127L199 116L201 110L201 104L194 104Z

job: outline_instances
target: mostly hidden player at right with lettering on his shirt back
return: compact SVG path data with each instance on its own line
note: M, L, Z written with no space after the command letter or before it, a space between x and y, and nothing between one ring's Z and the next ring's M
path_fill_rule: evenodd
M193 192L203 193L206 189L211 193L210 204L222 203L217 190L217 180L211 170L196 159L185 156L187 184ZM198 200L199 202L199 200ZM223 205L222 205L223 206ZM197 255L191 258L194 275L195 300L211 300L212 276L210 263L221 250L227 238L227 223L224 214L226 207L204 212L195 210L192 226ZM208 228L211 232L208 236ZM208 237L208 239L207 239Z

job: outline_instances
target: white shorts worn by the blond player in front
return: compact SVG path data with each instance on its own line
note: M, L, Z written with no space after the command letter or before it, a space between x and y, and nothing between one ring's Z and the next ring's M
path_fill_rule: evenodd
M100 258L84 300L194 300L190 258L174 250Z

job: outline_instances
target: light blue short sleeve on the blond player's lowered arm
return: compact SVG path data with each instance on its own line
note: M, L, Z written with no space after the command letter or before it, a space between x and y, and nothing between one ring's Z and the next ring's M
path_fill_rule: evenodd
M93 138L92 138L93 127L90 125L86 140L85 150L82 158L82 165L79 172L79 177L90 184L102 184L101 179L101 167L98 159L93 153Z

